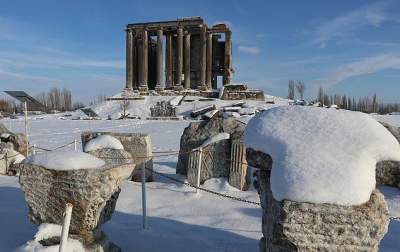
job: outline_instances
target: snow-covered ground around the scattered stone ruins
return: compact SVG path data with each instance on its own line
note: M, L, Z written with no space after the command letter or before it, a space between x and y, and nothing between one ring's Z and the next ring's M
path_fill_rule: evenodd
M275 105L255 104L268 108L282 105L287 100L279 101L281 103ZM183 110L189 111L196 104L205 106L207 103L208 101L187 103L184 105L187 109ZM221 103L222 101L218 101L217 105L224 106ZM231 103L233 102L227 102L226 105ZM117 113L117 106L118 103L108 109L95 110L106 118L112 109ZM132 104L131 106L131 115L134 115L135 108ZM142 113L143 110L139 112ZM74 112L73 116L79 113ZM189 124L189 121L59 120L60 117L61 115L32 116L29 122L30 141L51 149L74 139L79 140L83 131L143 132L150 134L154 151L178 150L180 136ZM400 126L400 116L398 119L388 117L382 118L392 120L392 124L398 123L397 126ZM12 131L24 131L22 119L2 119L0 122ZM72 150L73 146L62 150L67 149ZM156 158L154 169L183 180L183 177L175 174L176 162L176 156ZM258 240L262 236L260 207L205 192L196 195L192 188L158 175L154 178L154 182L147 184L150 230L142 230L141 185L130 181L122 184L113 218L103 225L109 239L123 251L258 251ZM259 201L254 189L240 192L223 179L209 180L203 186ZM400 190L386 187L383 189L391 214L398 215ZM0 252L15 251L32 240L37 232L37 227L28 220L28 208L17 177L0 176L0 202ZM381 243L381 251L399 251L399 235L400 222L391 221L389 231Z

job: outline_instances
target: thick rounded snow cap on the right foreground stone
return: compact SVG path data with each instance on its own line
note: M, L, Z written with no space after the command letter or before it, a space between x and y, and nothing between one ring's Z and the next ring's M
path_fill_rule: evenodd
M276 200L359 205L375 188L375 166L400 161L400 145L371 116L346 110L286 106L251 119L246 147L272 157Z

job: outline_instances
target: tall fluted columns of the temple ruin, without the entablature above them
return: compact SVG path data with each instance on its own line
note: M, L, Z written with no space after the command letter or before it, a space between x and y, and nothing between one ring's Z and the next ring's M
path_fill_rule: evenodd
M184 70L184 88L190 88L190 38L189 32L184 34L183 29L177 29L177 62L175 78L173 76L173 48L172 34L166 34L166 80L167 87L181 88L182 73ZM156 86L162 88L163 75L163 31L157 31L157 65ZM141 39L141 43L139 43ZM206 26L200 26L200 88L211 88L212 85L212 33L207 33ZM231 36L230 32L225 35L225 66L228 68L224 74L224 84L230 83L232 68L231 63ZM185 56L185 58L183 58ZM138 73L135 72L133 62L138 62ZM148 84L148 33L142 30L140 33L127 31L126 38L126 88L136 89L133 80L138 75L139 88L146 89ZM174 81L175 79L175 81Z

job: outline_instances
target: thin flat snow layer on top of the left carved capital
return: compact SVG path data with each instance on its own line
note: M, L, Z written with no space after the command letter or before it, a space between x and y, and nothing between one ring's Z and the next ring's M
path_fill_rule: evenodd
M94 169L105 165L105 162L90 154L76 151L49 151L29 156L25 164L33 164L50 170Z

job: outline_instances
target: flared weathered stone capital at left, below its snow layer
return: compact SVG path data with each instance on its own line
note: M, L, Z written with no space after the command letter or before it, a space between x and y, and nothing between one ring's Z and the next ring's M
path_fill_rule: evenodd
M21 164L19 183L25 193L29 217L35 224L63 223L66 203L73 204L70 233L85 243L108 221L120 192L119 184L131 176L131 165L105 165L97 169L49 170Z

